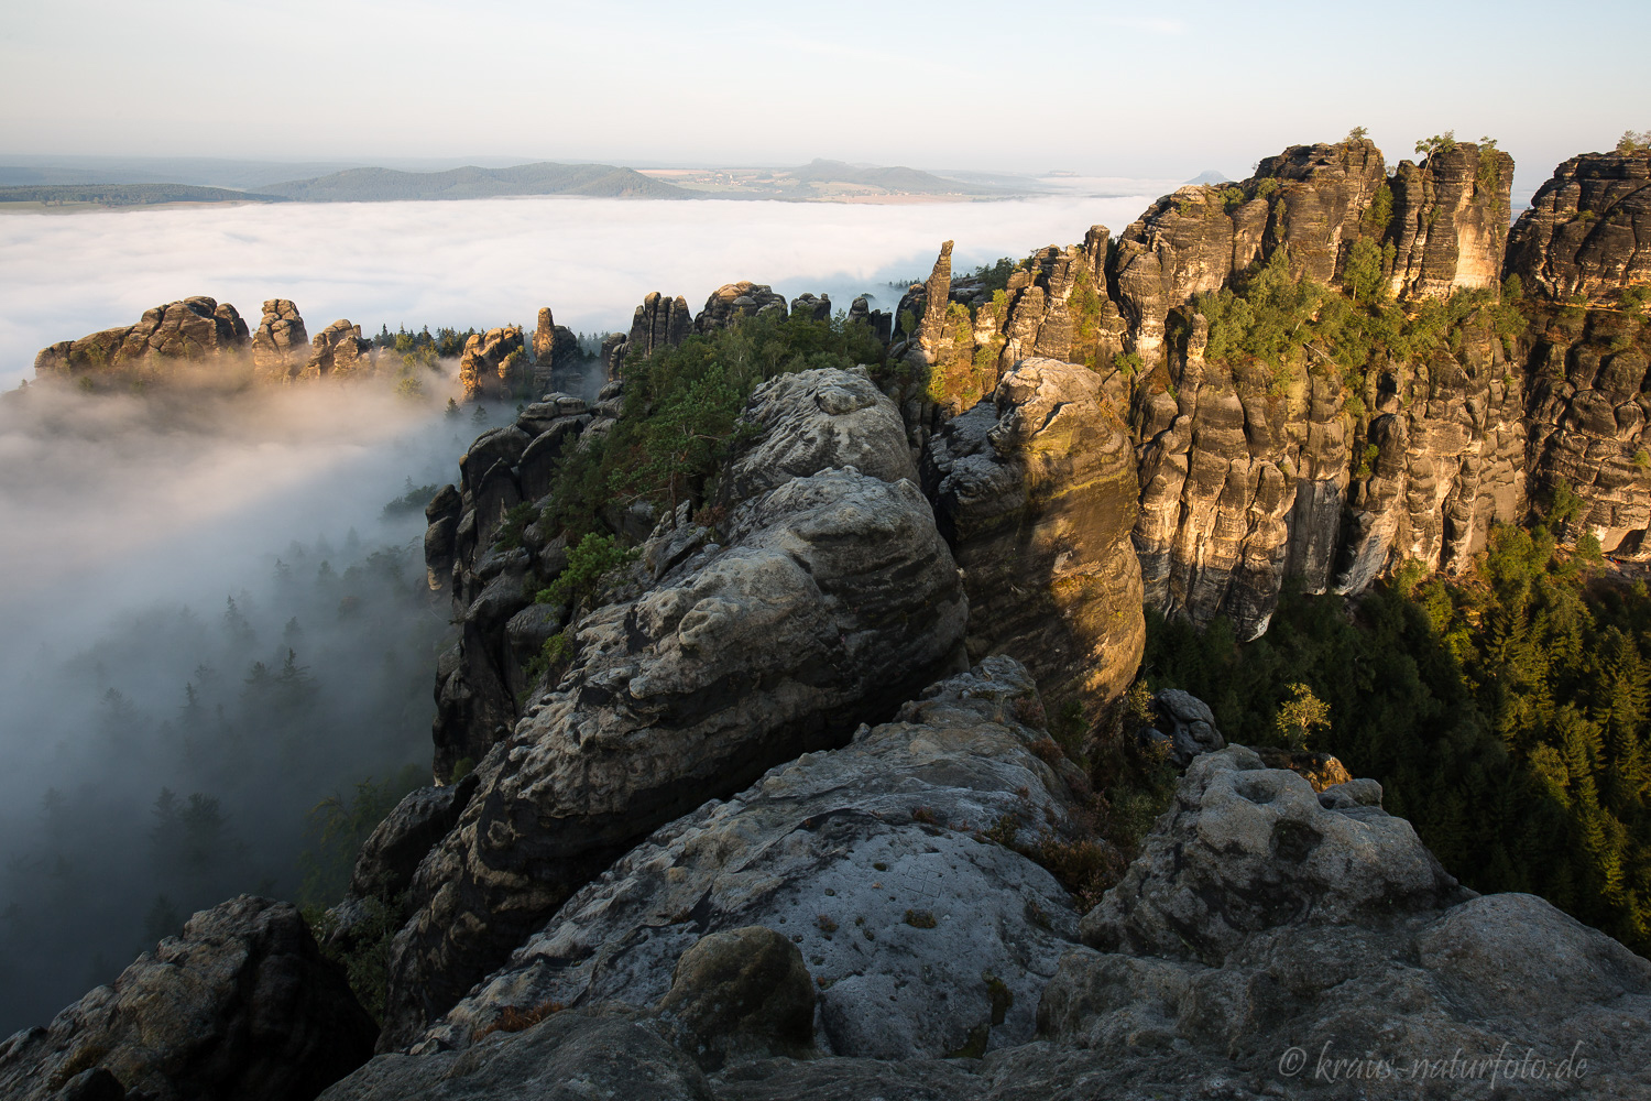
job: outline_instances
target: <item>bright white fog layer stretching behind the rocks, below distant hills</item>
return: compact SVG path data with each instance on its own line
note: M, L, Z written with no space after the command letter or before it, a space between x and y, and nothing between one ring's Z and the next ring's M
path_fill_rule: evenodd
M1116 187L1116 182L1109 182ZM1156 191L1154 191L1156 193ZM888 294L921 277L941 241L958 264L1123 229L1146 196L1002 203L835 205L510 198L449 203L279 203L0 216L0 388L35 353L160 302L206 294L249 325L264 299L297 302L310 332L348 317L408 325L533 324L542 305L576 330L624 328L649 291L693 309L725 282L788 295ZM898 291L895 291L898 295Z

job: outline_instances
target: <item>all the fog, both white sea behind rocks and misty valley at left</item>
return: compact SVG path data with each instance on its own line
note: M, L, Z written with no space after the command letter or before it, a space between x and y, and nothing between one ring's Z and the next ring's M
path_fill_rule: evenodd
M601 332L649 291L698 307L735 279L893 307L944 239L969 267L1121 228L1146 201L0 215L0 386L46 343L192 294L251 324L291 297L312 332L532 324L542 305ZM421 494L510 416L451 416L449 393L451 375L423 399L371 385L0 399L0 1035L114 979L196 908L337 900L347 852L320 843L314 809L428 782L452 627L424 584Z

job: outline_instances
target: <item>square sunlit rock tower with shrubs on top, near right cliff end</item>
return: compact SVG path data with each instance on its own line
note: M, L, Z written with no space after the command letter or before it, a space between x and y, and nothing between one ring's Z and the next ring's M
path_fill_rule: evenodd
M1400 299L1448 299L1494 287L1507 249L1514 158L1494 144L1448 144L1420 165L1402 160L1388 180L1393 244L1388 291Z

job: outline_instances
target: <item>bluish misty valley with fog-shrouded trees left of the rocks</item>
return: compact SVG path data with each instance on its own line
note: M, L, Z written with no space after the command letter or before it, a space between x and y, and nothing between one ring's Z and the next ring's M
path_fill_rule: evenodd
M423 505L505 416L337 386L64 401L0 409L0 1033L239 891L337 900L348 810L428 782L449 609Z

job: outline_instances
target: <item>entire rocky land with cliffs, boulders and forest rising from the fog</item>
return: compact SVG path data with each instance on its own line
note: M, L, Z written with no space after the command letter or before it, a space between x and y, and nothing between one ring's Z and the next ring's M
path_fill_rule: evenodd
M1648 175L1509 229L1494 144L1352 134L892 314L469 333L433 784L0 1091L1644 1096ZM395 366L150 314L41 385Z

